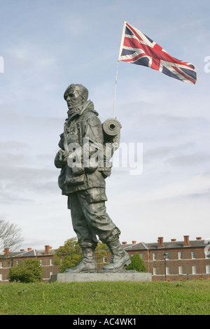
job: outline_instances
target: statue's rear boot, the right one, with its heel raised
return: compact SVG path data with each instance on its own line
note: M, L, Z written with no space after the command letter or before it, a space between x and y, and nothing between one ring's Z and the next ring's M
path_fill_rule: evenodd
M103 269L122 269L125 265L130 265L130 256L120 244L119 240L113 242L106 242L106 245L111 251L112 258L108 265L105 265Z

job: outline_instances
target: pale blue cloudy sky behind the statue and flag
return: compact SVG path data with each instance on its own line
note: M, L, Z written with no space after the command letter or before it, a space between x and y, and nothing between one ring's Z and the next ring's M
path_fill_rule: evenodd
M119 63L121 143L143 146L143 171L113 167L109 216L127 243L210 236L209 9L206 0L0 0L0 218L22 228L22 247L75 236L54 167L63 94L82 83L102 122L112 117L123 21L195 64L198 81Z

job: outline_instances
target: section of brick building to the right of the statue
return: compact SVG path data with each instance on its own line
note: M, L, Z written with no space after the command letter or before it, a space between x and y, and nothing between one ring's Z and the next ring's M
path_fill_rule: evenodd
M137 244L132 241L132 244L123 242L123 246L130 255L141 255L153 281L179 281L210 279L209 241L201 237L190 241L189 236L185 235L183 241L172 239L165 242L163 237L158 237L156 243Z

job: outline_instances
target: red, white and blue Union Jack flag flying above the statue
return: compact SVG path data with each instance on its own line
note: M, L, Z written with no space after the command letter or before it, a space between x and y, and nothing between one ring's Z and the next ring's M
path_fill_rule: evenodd
M196 83L195 66L170 56L158 43L127 22L123 25L118 61L144 65L178 80Z

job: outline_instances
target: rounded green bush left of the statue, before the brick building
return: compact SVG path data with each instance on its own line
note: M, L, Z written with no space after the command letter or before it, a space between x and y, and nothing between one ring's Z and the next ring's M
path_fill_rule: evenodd
M22 260L17 266L10 268L8 279L10 281L20 281L22 283L42 281L42 267L40 260Z

